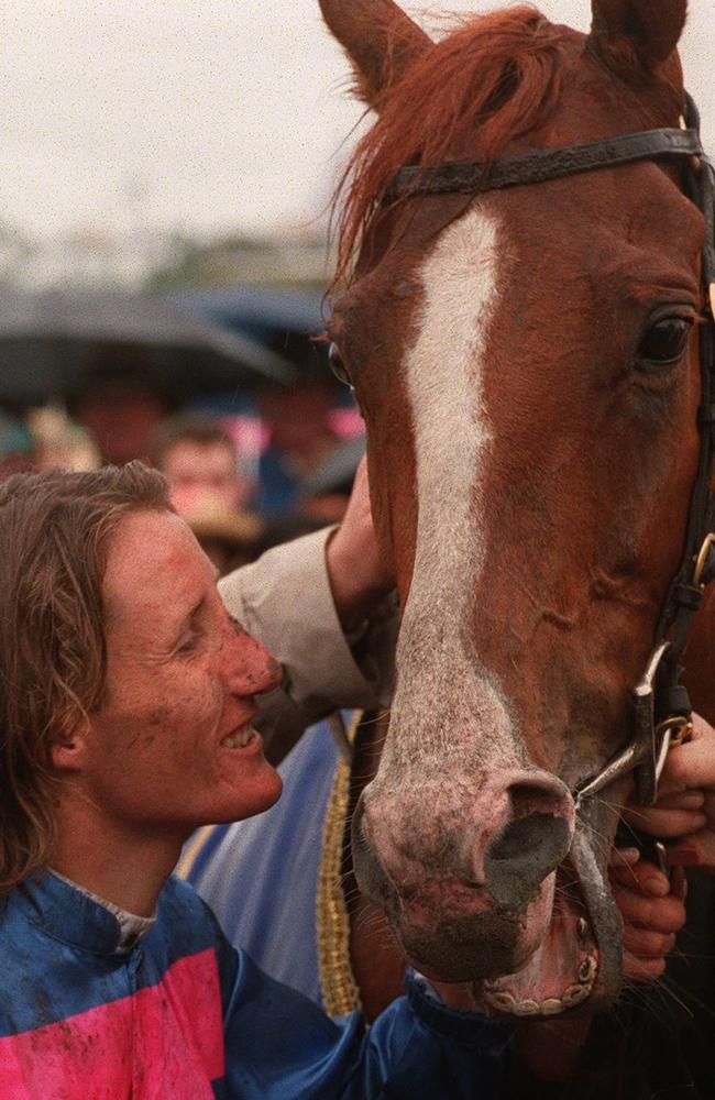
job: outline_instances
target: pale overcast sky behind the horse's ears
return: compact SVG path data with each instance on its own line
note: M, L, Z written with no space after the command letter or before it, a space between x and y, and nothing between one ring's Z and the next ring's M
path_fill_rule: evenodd
M587 28L587 0L539 7ZM715 0L690 0L682 52L711 146L714 40ZM35 234L307 226L360 113L318 0L0 0L0 221Z

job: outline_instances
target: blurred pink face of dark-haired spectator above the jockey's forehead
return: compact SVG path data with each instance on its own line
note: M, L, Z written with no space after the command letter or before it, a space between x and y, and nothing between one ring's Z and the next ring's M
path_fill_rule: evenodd
M235 452L219 441L177 440L164 453L162 473L178 512L189 510L190 503L202 493L228 509L241 507L249 497L250 486L239 473Z

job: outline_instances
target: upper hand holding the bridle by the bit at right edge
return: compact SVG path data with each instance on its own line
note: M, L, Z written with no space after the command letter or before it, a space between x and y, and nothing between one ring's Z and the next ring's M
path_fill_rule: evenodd
M693 737L672 749L650 810L628 805L624 820L634 828L672 840L674 867L715 872L715 729L693 715Z

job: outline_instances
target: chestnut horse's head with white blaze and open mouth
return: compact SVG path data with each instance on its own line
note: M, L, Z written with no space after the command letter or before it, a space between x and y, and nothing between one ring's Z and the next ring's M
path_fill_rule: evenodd
M593 0L585 36L519 7L436 43L393 0L320 7L377 112L348 177L329 332L403 608L389 727L352 828L367 899L353 916L384 912L399 948L376 965L355 921L356 974L373 1010L399 952L471 983L487 1012L605 1004L620 970L605 866L640 759L623 756L632 689L698 470L704 222L682 157L483 191L479 176L678 129L685 0ZM440 186L447 163L472 185ZM714 650L706 610L688 667L711 719Z

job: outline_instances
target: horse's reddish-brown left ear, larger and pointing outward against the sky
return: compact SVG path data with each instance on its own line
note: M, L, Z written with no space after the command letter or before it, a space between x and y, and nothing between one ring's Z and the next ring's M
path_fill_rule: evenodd
M432 45L394 0L320 0L320 10L353 64L358 95L371 107Z

